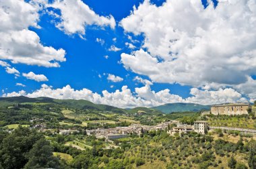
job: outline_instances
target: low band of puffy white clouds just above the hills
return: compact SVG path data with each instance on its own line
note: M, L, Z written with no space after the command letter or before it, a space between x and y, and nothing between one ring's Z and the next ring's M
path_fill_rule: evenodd
M25 91L4 93L3 97L14 97L24 95L26 97L52 97L55 99L85 99L93 103L113 105L121 108L131 107L153 107L162 105L164 103L199 103L203 105L212 105L225 102L246 101L242 95L234 89L220 89L218 91L201 91L199 89L191 89L192 97L183 99L179 95L173 95L169 89L162 91L152 91L150 85L146 84L144 87L135 88L135 94L123 86L121 91L116 90L113 93L102 91L102 94L93 93L89 89L75 90L69 85L61 89L53 89L46 84L42 84L41 89L32 93Z

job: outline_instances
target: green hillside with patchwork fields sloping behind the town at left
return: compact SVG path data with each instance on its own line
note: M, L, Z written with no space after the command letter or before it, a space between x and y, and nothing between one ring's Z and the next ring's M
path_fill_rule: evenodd
M0 117L0 127L30 125L30 121L40 119L38 124L43 123L50 128L59 125L79 125L90 128L126 126L130 123L156 125L164 118L161 111L146 107L120 109L86 100L48 97L1 97ZM52 121L53 119L55 120Z

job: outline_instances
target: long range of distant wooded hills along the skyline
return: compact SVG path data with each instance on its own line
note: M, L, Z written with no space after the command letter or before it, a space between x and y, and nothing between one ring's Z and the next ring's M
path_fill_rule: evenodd
M114 113L172 113L172 112L186 112L186 111L202 111L210 110L210 105L199 105L194 103L169 103L160 105L158 107L146 108L136 107L133 109L121 109L110 105L94 104L86 100L74 100L74 99L52 99L49 97L0 97L0 107L8 107L15 104L26 103L49 103L56 105L63 105L63 107L77 108L77 109L90 109L96 111L112 111Z

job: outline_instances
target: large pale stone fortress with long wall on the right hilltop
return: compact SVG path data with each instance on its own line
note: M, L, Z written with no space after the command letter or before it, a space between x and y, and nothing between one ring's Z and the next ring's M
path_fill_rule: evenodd
M211 113L213 115L247 115L249 103L232 103L223 105L212 105Z

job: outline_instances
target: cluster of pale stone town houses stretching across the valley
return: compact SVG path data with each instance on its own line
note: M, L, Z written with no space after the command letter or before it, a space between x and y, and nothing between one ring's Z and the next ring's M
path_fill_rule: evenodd
M172 129L167 132L170 135L174 135L174 133L189 133L191 131L195 131L197 133L205 134L207 132L207 122L206 121L195 121L194 125L183 125L179 123L179 121L167 121L164 123L159 123L158 125L149 126L149 125L141 125L141 124L131 124L128 127L115 127L109 129L91 129L86 130L88 135L95 135L97 138L105 138L106 141L112 139L119 139L122 137L127 137L131 133L135 133L140 135L145 131L158 131L168 129L170 124L176 124L177 127L172 127Z

